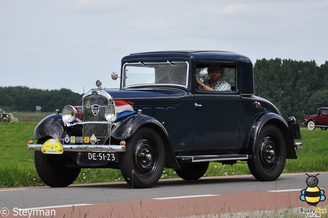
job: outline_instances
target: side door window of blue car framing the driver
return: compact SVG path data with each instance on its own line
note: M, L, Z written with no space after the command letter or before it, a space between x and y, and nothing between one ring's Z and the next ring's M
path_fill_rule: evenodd
M197 64L196 85L198 91L236 91L237 67L227 64ZM204 77L207 73L208 76ZM205 74L206 75L206 74Z

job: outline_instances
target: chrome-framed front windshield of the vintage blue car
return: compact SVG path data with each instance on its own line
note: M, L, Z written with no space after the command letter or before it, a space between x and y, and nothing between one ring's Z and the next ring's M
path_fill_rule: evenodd
M187 88L188 62L126 63L123 68L122 87L175 85Z

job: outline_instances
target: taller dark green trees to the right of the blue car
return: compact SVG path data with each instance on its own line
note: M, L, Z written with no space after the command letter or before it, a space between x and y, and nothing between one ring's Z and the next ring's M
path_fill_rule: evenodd
M260 59L254 64L255 94L274 103L284 119L294 116L299 124L304 115L328 107L328 61Z

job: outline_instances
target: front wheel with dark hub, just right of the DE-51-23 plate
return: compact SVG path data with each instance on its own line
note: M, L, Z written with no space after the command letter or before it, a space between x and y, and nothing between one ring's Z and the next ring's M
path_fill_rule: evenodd
M132 188L151 188L162 175L165 148L160 135L150 127L141 127L126 142L126 151L119 154L119 167Z

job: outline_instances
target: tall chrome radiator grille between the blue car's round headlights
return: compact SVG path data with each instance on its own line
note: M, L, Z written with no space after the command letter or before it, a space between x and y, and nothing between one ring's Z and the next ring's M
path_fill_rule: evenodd
M102 95L88 95L83 99L83 121L91 122L83 125L83 136L91 137L92 135L95 135L98 139L97 144L105 143L111 126L110 124L92 122L107 121L105 119L105 109L109 104L109 101L110 99Z

